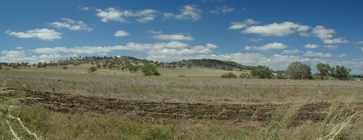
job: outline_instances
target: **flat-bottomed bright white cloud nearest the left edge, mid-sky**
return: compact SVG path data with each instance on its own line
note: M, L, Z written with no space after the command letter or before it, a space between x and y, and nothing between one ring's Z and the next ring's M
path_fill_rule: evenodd
M9 36L16 36L19 38L39 38L40 40L60 40L62 39L61 35L62 33L56 32L54 29L34 29L34 30L28 30L25 33L24 32L11 32L10 30L7 30ZM5 33L6 33L5 32Z

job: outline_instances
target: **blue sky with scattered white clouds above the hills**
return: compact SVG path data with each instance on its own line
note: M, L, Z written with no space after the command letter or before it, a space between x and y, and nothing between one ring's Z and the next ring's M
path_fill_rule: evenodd
M127 55L362 73L363 1L2 1L0 61Z

